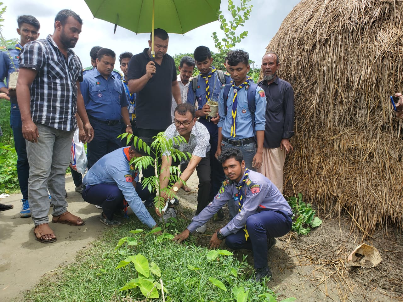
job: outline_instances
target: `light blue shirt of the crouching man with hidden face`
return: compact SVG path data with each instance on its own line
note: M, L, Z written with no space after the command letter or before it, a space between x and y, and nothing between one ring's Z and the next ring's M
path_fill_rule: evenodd
M139 181L139 172L129 165L128 150L129 147L123 147L104 155L85 174L83 185L116 184L137 218L153 228L156 222L133 187L133 181Z

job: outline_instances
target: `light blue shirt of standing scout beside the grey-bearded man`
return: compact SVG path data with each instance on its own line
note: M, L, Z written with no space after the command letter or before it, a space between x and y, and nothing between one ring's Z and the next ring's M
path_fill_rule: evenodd
M266 126L266 97L264 91L259 86L256 87L255 100L256 100L256 111L255 111L255 125L252 125L252 116L248 106L247 90L243 87L238 90L237 99L237 129L235 132L235 137L231 137L231 124L232 120L232 103L234 97L234 89L230 89L228 97L224 103L224 89L220 93L220 98L218 99L218 115L220 116L220 121L218 122L218 128L222 127L221 134L226 139L232 139L234 141L239 141L240 139L248 139L249 137L254 137L256 131L263 130ZM224 110L227 110L225 115Z

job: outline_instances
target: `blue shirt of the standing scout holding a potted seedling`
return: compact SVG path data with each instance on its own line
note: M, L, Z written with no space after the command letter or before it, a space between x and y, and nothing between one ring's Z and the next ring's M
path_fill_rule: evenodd
M214 69L214 66L211 66ZM225 83L230 83L231 77L227 72L224 72ZM189 82L189 91L187 92L187 103L191 103L195 105L195 93L193 92L193 84L192 81L197 80L197 88L196 88L196 101L199 104L199 107L196 110L201 110L206 103L206 80L203 79L202 75L194 77ZM208 80L208 86L210 90L210 100L216 99L218 101L218 96L220 95L220 91L225 87L224 84L220 82L218 79L217 72L214 72L211 78Z

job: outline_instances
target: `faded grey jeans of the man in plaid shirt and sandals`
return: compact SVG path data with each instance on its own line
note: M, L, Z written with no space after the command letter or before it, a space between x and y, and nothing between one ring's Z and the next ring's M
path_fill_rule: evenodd
M26 141L29 161L28 199L31 217L36 225L48 223L49 193L52 195L53 216L67 211L64 188L66 169L70 164L74 131L58 130L39 123L37 143Z

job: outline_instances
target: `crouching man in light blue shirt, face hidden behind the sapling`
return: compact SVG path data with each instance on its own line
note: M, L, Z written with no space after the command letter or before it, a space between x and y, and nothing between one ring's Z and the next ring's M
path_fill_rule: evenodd
M142 223L156 226L142 202L150 193L141 187L139 171L130 164L132 158L144 155L135 145L116 149L101 157L84 176L83 199L102 207L100 221L105 225L121 224L116 217L127 215L129 205Z

